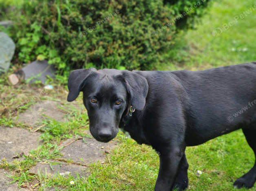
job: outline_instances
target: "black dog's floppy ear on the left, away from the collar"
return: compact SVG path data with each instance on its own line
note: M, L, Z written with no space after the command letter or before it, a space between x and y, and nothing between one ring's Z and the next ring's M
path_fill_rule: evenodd
M76 69L73 70L68 77L68 102L74 101L79 92L81 91L86 79L92 72L96 71L95 68L90 69Z

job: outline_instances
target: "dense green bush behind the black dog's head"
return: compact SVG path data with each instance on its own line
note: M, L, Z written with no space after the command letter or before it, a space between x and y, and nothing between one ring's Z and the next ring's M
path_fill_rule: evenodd
M23 0L2 6L18 61L48 59L61 72L82 67L154 69L210 0Z

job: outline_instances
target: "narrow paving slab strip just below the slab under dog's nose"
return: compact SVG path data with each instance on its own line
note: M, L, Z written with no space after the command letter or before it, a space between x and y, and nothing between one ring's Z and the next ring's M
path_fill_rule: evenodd
M53 176L54 174L60 174L63 173L62 176L68 176L68 174L76 177L77 174L79 176L87 177L90 173L88 172L87 168L82 165L73 165L68 164L60 161L49 161L51 163L51 166L49 163L37 163L35 166L33 166L29 172L33 174L43 174L44 176L47 174L47 176ZM51 167L53 169L51 169Z

